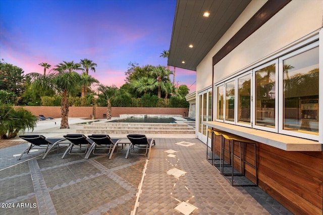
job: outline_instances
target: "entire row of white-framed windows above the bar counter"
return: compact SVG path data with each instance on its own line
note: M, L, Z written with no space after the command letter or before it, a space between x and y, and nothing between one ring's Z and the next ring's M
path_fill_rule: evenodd
M219 83L214 90L216 120L313 140L322 138L318 45L316 40L294 51L290 48Z

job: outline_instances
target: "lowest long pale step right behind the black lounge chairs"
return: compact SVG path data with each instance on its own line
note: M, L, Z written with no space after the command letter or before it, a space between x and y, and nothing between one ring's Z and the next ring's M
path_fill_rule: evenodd
M173 130L151 130L151 129L77 129L76 133L102 133L102 134L109 134L109 133L165 133L165 134L194 134L195 130L191 129L173 129Z

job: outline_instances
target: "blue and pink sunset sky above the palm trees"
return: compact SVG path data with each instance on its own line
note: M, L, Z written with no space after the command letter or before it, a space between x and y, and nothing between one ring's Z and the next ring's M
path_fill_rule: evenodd
M120 87L129 62L167 65L176 0L1 0L0 58L25 74L87 58L89 75ZM171 67L173 70L173 67ZM173 77L171 76L171 80ZM195 91L196 72L176 69L178 85Z

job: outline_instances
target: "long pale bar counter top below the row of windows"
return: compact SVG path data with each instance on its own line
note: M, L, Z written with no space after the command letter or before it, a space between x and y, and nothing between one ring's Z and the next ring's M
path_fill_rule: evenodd
M261 142L262 144L272 146L284 151L323 151L323 144L310 139L304 139L300 137L263 131L217 121L203 121L202 124L257 142Z

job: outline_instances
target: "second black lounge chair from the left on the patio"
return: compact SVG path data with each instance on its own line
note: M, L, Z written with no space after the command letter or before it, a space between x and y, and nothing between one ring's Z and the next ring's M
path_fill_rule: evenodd
M64 135L64 137L71 142L70 146L65 151L64 155L62 156L62 159L65 157L67 153L70 155L84 155L87 153L89 147L93 144L93 141L91 139L86 138L84 134L67 134ZM82 149L82 146L86 146L84 153L72 153L72 149L74 146L80 147Z

